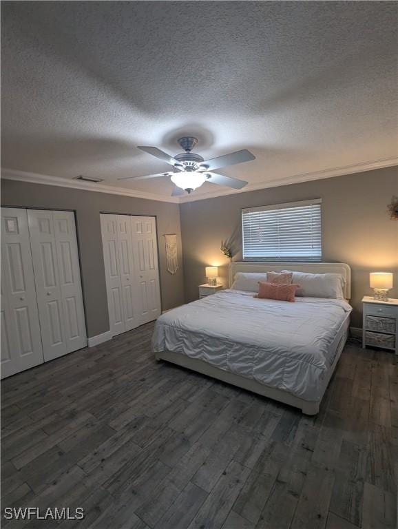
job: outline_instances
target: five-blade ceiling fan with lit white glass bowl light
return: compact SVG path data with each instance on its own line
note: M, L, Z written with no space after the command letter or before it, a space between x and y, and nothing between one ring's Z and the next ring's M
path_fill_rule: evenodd
M238 180L238 178L232 178L231 176L213 173L213 169L221 169L222 167L227 167L227 165L235 165L237 163L254 160L255 156L253 156L253 154L247 149L230 152L229 154L224 154L217 158L211 158L210 160L204 160L199 154L191 152L193 147L198 143L197 138L193 138L193 136L183 136L178 140L178 143L185 152L176 154L176 156L170 156L158 149L158 147L145 147L138 145L138 149L172 165L172 171L158 174L147 174L145 176L127 176L127 178L118 178L118 180L146 180L147 178L170 176L171 182L176 185L171 196L183 195L184 191L191 193L193 189L197 189L205 182L226 185L227 187L233 187L233 189L242 189L242 187L247 185L247 182L244 180Z

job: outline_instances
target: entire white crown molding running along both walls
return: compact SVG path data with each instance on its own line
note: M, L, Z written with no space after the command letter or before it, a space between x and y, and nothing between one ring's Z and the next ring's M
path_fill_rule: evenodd
M69 180L68 178L59 178L57 176L18 171L17 169L1 169L1 178L5 180L19 180L21 182L30 182L35 184L69 187L84 191L96 191L98 193L108 193L112 195L130 196L132 198L143 198L145 200L158 200L159 202L183 204L187 202L196 202L197 200L207 200L208 198L217 198L219 196L248 193L249 191L257 191L258 189L267 189L269 187L279 187L282 185L310 182L311 180L333 178L333 176L343 176L345 174L354 174L372 171L374 169L383 169L384 167L393 167L395 165L398 165L398 158L397 156L391 156L390 158L359 162L352 165L344 165L342 167L333 167L330 169L321 169L320 171L294 174L285 176L283 178L275 178L274 180L264 180L249 184L243 189L220 189L218 191L218 189L216 189L218 186L214 185L214 191L209 191L207 193L195 191L193 194L184 196L158 195L148 191L137 191L136 189L125 189L123 187L113 187L98 183L81 182L80 180Z

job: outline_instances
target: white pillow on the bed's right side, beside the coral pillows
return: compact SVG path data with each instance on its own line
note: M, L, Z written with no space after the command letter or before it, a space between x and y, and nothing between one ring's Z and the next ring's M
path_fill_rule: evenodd
M289 272L291 270L284 270ZM300 287L295 295L308 298L344 299L344 279L341 273L308 273L293 271L293 283Z

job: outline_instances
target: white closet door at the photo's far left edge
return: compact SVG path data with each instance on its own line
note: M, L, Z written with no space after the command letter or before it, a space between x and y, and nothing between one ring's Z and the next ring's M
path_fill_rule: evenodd
M1 377L43 363L26 209L1 209Z

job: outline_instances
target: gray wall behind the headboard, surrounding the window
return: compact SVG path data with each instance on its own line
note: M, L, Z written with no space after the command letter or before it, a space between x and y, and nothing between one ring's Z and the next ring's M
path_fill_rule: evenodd
M371 295L370 271L395 272L398 298L398 220L390 220L387 205L398 196L397 167L272 187L180 205L185 299L198 298L205 267L221 266L227 284L229 259L221 240L231 238L233 260L242 259L240 210L243 207L322 198L323 260L346 262L352 271L352 324L362 326L361 300Z

